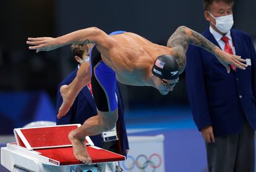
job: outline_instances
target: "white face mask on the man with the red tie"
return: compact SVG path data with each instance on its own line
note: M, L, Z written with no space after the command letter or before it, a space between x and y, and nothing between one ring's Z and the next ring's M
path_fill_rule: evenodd
M233 27L233 24L234 24L233 14L224 15L221 17L214 17L210 12L208 13L211 15L211 17L215 18L216 20L215 27L222 33L227 33Z

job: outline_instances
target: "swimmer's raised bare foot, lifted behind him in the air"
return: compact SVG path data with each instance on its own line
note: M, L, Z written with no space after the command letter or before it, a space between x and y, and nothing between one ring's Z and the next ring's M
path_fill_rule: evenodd
M75 96L70 94L68 85L62 85L61 89L59 89L59 92L61 92L63 102L59 108L59 113L57 115L58 119L66 115L75 100Z

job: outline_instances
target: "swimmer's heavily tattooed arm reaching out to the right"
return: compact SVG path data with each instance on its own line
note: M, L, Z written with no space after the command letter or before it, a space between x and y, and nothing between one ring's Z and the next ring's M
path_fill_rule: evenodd
M177 28L177 30L169 38L167 46L177 47L179 51L186 54L189 43L198 47L202 47L203 49L211 52L211 54L214 54L217 59L224 65L224 67L226 67L228 73L230 72L229 64L243 70L245 67L247 67L246 64L242 63L246 62L246 60L241 59L240 56L228 54L227 52L222 51L218 46L215 46L215 44L211 43L208 41L208 39L200 35L200 33L197 33L196 31L187 27Z

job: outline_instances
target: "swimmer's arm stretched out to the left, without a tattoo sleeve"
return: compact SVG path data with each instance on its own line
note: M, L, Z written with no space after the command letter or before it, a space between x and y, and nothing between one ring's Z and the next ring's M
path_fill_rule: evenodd
M115 41L113 41L113 39L108 36L104 31L96 27L73 31L67 35L59 36L58 38L28 38L27 41L27 44L32 45L29 47L29 49L36 49L36 52L51 51L53 49L57 49L58 47L74 43L93 43L97 46L100 46L101 49L104 50L111 48L111 46L114 46Z

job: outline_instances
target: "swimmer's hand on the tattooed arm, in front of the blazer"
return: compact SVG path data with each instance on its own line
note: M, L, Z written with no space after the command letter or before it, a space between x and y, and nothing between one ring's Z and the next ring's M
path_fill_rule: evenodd
M242 59L241 56L221 51L219 47L215 49L215 55L217 59L221 62L221 64L223 64L224 67L226 67L228 73L230 72L229 65L234 65L235 67L241 68L242 70L245 70L245 67L247 67L245 63L242 63L246 62L246 60Z

